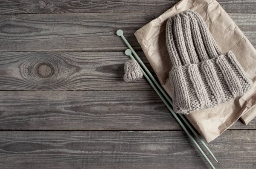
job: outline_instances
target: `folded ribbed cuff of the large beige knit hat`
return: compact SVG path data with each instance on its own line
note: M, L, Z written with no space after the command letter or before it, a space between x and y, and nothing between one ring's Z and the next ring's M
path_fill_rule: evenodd
M173 109L182 114L230 101L252 85L231 51L199 64L175 66L169 76Z

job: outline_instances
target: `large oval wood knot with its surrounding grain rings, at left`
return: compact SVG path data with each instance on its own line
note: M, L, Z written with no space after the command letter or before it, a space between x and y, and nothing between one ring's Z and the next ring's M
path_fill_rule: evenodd
M68 56L55 52L29 54L19 67L26 83L36 90L54 90L67 85L81 70Z

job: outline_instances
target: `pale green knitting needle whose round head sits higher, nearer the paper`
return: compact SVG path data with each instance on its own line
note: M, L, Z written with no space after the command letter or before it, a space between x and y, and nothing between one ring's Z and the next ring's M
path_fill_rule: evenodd
M136 52L133 50L133 48L131 47L131 45L129 44L129 42L125 39L125 37L123 36L123 31L121 29L119 29L118 31L116 31L116 34L118 36L120 36L125 44L128 46L128 48L132 51L132 53L134 54L134 56L136 57L136 59L140 62L140 64L142 65L142 67L144 68L144 70L148 73L148 75L150 76L150 78L153 80L153 82L157 85L157 87L159 88L159 90L163 93L163 95L165 96L165 98L169 101L169 103L173 106L172 100L170 99L170 97L166 94L166 92L163 90L162 86L159 85L159 83L156 81L156 79L154 79L154 76L152 76L152 74L150 73L150 71L148 70L148 68L144 65L144 63L142 62L142 60L140 59L140 57L136 54ZM212 156L212 158L214 158L215 161L217 161L217 159L215 158L215 156L212 154L211 150L208 148L208 146L204 143L204 141L199 137L199 135L197 134L197 132L193 129L193 127L189 124L189 122L186 120L186 118L182 115L179 114L180 118L182 118L182 120L186 123L186 125L189 127L189 129L194 133L194 135L196 136L196 138L198 138L198 140L201 142L201 144L204 146L204 148L207 150L207 152L209 152L209 154ZM218 162L218 161L217 161Z

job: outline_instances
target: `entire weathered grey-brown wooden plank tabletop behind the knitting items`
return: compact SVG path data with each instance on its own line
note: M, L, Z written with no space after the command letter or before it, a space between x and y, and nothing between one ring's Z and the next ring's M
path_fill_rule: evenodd
M177 2L0 0L0 168L209 169L148 82L122 79L116 30L147 62L134 32ZM256 46L256 0L218 2ZM256 120L207 145L255 169Z

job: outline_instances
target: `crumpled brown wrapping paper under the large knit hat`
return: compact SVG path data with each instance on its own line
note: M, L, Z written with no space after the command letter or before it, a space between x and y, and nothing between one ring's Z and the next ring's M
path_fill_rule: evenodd
M241 98L186 115L196 130L209 142L227 130L240 117L247 124L256 116L256 50L216 0L181 0L160 17L135 32L161 85L171 97L169 83L171 62L166 48L166 21L169 17L188 9L197 11L204 18L221 52L233 51L247 76L253 80L252 89Z

